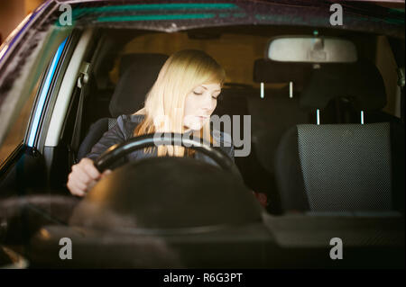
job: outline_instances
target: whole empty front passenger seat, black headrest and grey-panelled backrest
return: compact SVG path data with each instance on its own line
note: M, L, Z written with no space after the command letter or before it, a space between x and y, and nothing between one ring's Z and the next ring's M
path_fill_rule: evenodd
M337 98L367 111L365 124L297 125L283 135L274 162L283 210L404 211L404 130L382 116L379 71L364 60L325 65L300 104L323 109Z

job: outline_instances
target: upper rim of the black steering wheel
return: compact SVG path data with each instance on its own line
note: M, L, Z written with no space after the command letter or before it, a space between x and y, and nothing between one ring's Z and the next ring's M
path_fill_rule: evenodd
M100 157L97 158L95 166L97 170L102 173L109 166L115 163L119 158L142 148L149 148L152 146L171 145L181 146L184 148L192 148L206 156L213 159L218 166L231 172L237 178L242 179L237 167L233 160L226 155L220 148L212 148L206 140L198 141L182 137L180 133L162 133L160 137L156 134L146 134L143 136L128 139L123 143L116 144L108 148Z

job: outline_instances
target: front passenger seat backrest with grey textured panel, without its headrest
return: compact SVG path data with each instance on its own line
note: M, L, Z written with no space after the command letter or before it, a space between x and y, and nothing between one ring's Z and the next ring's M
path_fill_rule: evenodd
M278 151L285 211L392 210L389 123L298 125Z

